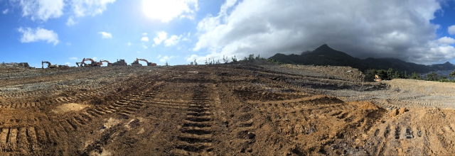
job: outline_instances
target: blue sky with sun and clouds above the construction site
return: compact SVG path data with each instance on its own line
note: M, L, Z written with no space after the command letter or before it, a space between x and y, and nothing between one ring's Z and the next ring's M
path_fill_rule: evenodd
M32 67L203 64L323 44L430 65L455 63L454 38L454 0L0 0L0 62Z

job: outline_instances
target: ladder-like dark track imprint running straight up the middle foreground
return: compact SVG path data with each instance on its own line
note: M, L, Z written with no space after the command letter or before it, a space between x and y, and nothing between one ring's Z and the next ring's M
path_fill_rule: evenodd
M186 109L186 118L180 128L176 155L200 155L213 151L213 113L210 108L208 87L198 84L193 91L192 101Z

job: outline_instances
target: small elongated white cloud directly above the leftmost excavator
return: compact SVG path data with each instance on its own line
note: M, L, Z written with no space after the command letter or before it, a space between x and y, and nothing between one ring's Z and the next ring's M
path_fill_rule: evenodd
M54 46L60 41L58 40L58 34L54 33L53 30L46 30L43 28L18 28L19 33L22 33L21 43L33 43L40 40L45 40L48 43L53 43Z

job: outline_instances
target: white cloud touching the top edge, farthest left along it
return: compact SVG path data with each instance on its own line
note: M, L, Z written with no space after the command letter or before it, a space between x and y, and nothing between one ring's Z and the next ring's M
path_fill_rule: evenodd
M59 18L63 15L63 0L14 0L19 1L22 16L31 16L34 21L48 21L49 18Z

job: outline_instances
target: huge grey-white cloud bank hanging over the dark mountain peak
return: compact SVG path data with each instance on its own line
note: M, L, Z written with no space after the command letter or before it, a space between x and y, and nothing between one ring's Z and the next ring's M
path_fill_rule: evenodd
M217 16L198 23L193 50L206 50L208 55L188 60L300 54L328 44L360 58L446 61L455 58L455 51L441 44L447 40L438 40L439 26L429 22L440 9L438 0L228 0Z

